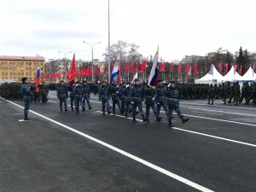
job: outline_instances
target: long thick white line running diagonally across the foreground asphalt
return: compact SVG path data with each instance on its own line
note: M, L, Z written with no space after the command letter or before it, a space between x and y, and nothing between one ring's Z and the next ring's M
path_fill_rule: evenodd
M2 98L2 99L3 99L3 98ZM3 99L3 100L4 100L4 99ZM5 101L6 101L6 102L10 102L10 101L7 101L7 100L5 100ZM16 104L15 102L10 102L10 103L14 104L15 106L17 106L17 107L19 107L19 108L23 108L22 106ZM54 123L54 124L56 124L56 125L60 125L60 126L62 126L62 127L64 127L64 128L66 128L66 129L69 130L69 131L73 131L73 132L79 134L80 136L86 137L86 138L90 139L91 141L94 141L94 142L96 142L96 143L101 144L102 146L105 146L106 148L110 148L110 149L112 149L113 151L118 152L119 154L123 154L123 155L125 155L126 157L129 157L131 160L136 160L137 162L139 162L139 163L141 163L141 164L143 164L143 165L145 165L145 166L148 166L148 167L154 169L155 171L161 172L161 173L165 174L165 175L168 176L168 177L172 177L172 178L176 179L176 180L179 181L179 182L185 183L185 184L189 185L190 187L192 187L192 188L194 188L194 189L198 189L198 190L200 190L200 191L205 191L205 192L213 192L211 189L207 189L207 188L201 186L200 184L197 184L197 183L194 183L194 182L192 182L192 181L189 181L188 179L186 179L186 178L184 178L184 177L180 177L180 176L178 176L177 174L175 174L175 173L173 173L173 172L169 172L169 171L167 171L166 169L161 168L160 166L155 166L154 164L148 162L147 160L143 160L143 159L141 159L141 158L139 158L139 157L137 157L137 156L135 156L135 155L133 155L133 154L130 154L130 153L125 152L125 151L122 150L122 149L116 148L116 147L114 147L113 145L110 145L110 144L108 144L108 143L102 142L101 140L96 139L95 137L90 137L89 135L84 134L84 133L81 132L81 131L75 130L75 129L73 129L73 128L70 127L70 126L61 124L60 122L55 121L54 119L49 119L48 117L46 117L46 116L44 116L44 115L42 115L42 114L40 114L40 113L34 112L34 111L32 111L32 110L30 110L30 113L34 113L34 114L38 115L39 117L42 117L42 118L44 118L44 119L47 119L47 120L49 120L50 122L52 122L52 123Z

